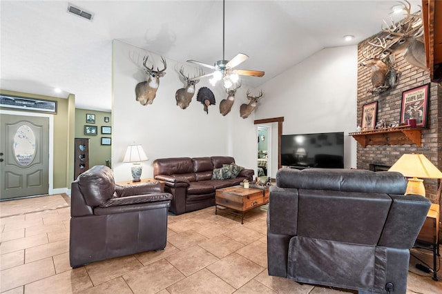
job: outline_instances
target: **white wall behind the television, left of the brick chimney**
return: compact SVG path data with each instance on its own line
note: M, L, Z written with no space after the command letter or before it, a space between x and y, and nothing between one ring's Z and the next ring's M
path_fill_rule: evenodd
M357 66L357 46L311 55L262 85L255 119L284 117L282 135L344 132L345 168L356 167Z

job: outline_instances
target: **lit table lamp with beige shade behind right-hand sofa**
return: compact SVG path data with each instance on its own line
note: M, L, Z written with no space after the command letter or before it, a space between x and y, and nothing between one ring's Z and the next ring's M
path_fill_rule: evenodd
M423 179L442 179L441 171L423 154L404 154L388 171L396 171L408 178L405 195L425 197Z

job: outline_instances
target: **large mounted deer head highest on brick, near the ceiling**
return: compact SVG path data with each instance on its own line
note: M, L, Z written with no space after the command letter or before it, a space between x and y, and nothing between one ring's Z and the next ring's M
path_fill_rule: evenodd
M387 28L383 28L383 32L388 32L392 36L396 36L394 43L389 48L386 48L385 53L402 53L405 61L412 66L427 69L427 61L425 55L425 44L422 40L423 35L423 21L421 11L412 14L411 4L405 1L407 4L403 4L403 10L407 12L407 16L400 21L397 25L392 21L392 25ZM386 22L384 21L386 24Z

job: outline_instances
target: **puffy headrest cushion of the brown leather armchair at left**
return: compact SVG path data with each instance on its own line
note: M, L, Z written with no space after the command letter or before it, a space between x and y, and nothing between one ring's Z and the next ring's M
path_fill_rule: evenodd
M113 197L115 180L111 168L93 166L78 176L78 187L88 206L99 206Z

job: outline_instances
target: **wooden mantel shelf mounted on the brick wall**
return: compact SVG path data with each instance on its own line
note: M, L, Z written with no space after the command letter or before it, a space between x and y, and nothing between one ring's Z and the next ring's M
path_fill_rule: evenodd
M421 147L421 128L400 126L397 128L382 128L364 132L349 133L364 148L367 145L401 145L416 144Z

